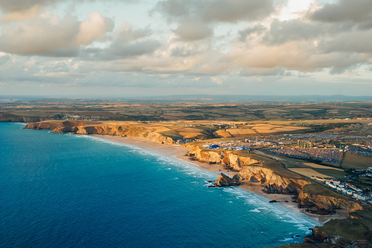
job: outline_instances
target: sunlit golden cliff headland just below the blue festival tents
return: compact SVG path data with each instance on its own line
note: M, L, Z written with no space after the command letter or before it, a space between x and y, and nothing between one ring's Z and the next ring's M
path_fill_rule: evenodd
M250 157L239 156L234 154L232 151L214 151L203 149L201 146L195 143L188 143L185 147L190 149L189 156L204 163L219 163L226 165L234 170L239 171L244 165L251 165L258 163L260 160L253 159Z

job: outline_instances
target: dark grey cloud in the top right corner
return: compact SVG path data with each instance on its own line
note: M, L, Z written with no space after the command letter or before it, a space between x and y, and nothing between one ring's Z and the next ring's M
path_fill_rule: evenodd
M365 22L372 18L371 0L339 0L325 4L311 15L312 20L322 22Z

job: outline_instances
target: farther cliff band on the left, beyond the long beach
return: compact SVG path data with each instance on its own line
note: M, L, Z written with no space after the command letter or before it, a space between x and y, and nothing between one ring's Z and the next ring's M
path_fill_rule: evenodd
M126 136L142 140L148 140L158 144L173 144L173 139L155 133L151 130L135 126L115 125L85 125L84 121L64 121L60 123L29 123L24 128L49 129L53 133L75 133L75 134L102 134Z

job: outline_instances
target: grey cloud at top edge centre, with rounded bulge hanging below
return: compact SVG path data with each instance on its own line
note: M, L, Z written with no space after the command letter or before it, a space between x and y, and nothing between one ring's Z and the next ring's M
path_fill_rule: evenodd
M199 40L213 34L212 25L264 18L274 10L273 0L163 0L151 13L158 12L184 40Z

